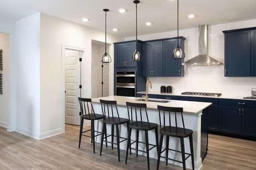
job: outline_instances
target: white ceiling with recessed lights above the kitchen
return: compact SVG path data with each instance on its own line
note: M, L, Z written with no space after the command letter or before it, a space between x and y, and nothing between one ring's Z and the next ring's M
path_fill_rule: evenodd
M42 12L119 36L136 35L133 0L0 0L0 20L19 20ZM126 9L119 13L120 8ZM256 0L179 0L179 29L256 19ZM195 14L189 19L188 14ZM83 22L81 18L89 18ZM146 22L152 22L146 26ZM112 28L118 28L117 32ZM138 4L138 35L177 30L177 0L141 0Z

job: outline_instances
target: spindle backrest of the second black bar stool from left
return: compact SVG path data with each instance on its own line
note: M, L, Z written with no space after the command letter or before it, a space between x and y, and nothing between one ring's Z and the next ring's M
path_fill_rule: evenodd
M104 117L108 117L109 121L113 121L114 122L114 110L116 110L119 122L120 122L120 117L119 117L119 113L118 113L118 109L116 107L116 101L108 101L108 100L101 100L100 99L100 103L101 103L101 108L102 108L102 113L104 115Z

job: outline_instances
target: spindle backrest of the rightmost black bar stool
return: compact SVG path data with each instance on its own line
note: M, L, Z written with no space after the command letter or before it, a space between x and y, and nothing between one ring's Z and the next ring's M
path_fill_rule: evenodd
M166 106L160 106L158 105L157 106L157 109L159 110L159 121L160 121L160 127L164 127L164 132L166 131L166 128L169 127L170 129L170 132L171 131L171 127L176 127L176 133L178 134L178 126L177 126L177 113L180 113L181 114L181 118L182 118L182 125L183 125L183 129L184 129L184 134L186 134L185 132L185 126L184 126L184 119L183 119L183 108L182 107L166 107ZM175 126L172 126L171 125L171 112L174 112L174 115L175 115ZM166 116L166 113L168 113L167 115L169 116ZM163 119L161 121L161 114L163 115ZM166 119L168 119L166 121Z

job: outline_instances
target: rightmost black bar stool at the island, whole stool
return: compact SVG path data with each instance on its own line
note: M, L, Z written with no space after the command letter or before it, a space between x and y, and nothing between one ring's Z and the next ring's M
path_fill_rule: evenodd
M173 160L176 162L180 162L183 165L183 170L186 170L186 159L191 156L192 160L192 169L194 170L194 151L193 151L193 139L192 134L193 130L187 129L184 127L184 119L183 119L183 108L182 107L165 107L165 106L157 106L159 110L159 120L160 120L160 126L162 127L160 129L160 143L159 143L159 150L158 150L158 160L157 160L157 170L159 168L160 158L166 159L166 165L168 164L168 160ZM175 116L175 126L171 126L171 112L174 112ZM182 118L182 125L183 127L177 127L177 116L176 113L181 114ZM163 120L161 121L161 115ZM168 119L169 118L169 119ZM166 148L162 150L162 144L163 144L163 138L164 135L166 136ZM170 136L180 138L180 146L181 151L169 149L169 138ZM190 154L185 153L185 147L184 147L184 138L189 137L190 142ZM172 158L168 158L168 152L169 150L180 152L182 154L182 161L180 160L174 160ZM166 151L166 156L161 156L162 152ZM188 156L185 158L185 154Z

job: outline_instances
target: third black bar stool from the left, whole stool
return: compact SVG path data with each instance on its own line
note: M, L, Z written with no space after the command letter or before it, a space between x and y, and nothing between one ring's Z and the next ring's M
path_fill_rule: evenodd
M158 151L158 125L156 123L150 123L148 121L148 113L147 113L147 110L146 110L146 107L147 107L146 103L126 102L126 105L127 105L127 109L128 109L130 124L129 124L129 133L128 133L128 142L127 142L127 148L126 148L125 163L127 164L128 149L136 150L136 156L138 156L138 151L144 152L144 153L147 154L148 170L149 170L150 169L149 168L149 151L154 147L156 147L156 149ZM142 117L144 117L142 115L142 110L145 111L147 121L142 121ZM135 121L134 121L134 119L135 119ZM134 143L134 142L131 143L132 129L136 130L136 140L134 141L134 142L136 142L136 148L131 147L131 145ZM139 141L139 131L140 130L145 132L145 142L140 142ZM148 143L148 131L149 130L155 130L156 144L149 144ZM146 151L139 150L138 149L138 143L146 144ZM149 145L152 146L152 147L149 148Z

